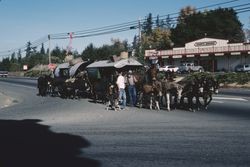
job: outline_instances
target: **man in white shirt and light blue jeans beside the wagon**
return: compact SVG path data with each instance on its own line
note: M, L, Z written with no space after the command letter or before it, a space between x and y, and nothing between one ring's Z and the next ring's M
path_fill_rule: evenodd
M122 72L119 73L116 84L119 91L119 101L122 103L121 109L123 110L126 107L126 92L125 92L125 78Z

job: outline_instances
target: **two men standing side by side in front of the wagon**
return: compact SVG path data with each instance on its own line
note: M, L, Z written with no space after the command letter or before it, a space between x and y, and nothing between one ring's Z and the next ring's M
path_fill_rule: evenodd
M116 84L118 87L119 92L119 102L121 104L121 109L125 109L127 103L127 96L126 96L126 87L129 94L130 106L135 106L137 103L136 99L136 84L137 79L133 75L132 70L128 71L128 74L125 76L124 72L119 72L119 75L116 80Z

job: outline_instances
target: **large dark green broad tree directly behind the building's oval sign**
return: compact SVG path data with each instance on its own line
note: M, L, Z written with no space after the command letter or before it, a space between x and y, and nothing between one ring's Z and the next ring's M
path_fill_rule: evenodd
M203 38L205 34L230 42L244 41L242 24L233 9L219 8L203 13L187 11L181 12L176 27L172 29L171 39L175 47L182 47L187 42Z

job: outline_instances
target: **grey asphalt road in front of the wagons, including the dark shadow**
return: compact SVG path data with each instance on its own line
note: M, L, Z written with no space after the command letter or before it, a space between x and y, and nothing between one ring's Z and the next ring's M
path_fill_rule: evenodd
M0 166L250 165L248 94L219 94L195 113L115 112L89 99L37 96L26 81L0 80L16 103L0 110Z

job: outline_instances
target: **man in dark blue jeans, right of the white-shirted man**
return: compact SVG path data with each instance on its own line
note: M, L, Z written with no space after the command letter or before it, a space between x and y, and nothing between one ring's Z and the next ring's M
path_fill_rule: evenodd
M127 79L128 79L128 93L129 93L130 106L135 106L136 105L135 83L137 82L137 80L133 75L132 70L129 70Z

